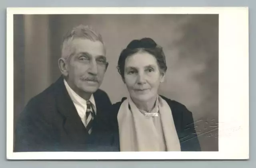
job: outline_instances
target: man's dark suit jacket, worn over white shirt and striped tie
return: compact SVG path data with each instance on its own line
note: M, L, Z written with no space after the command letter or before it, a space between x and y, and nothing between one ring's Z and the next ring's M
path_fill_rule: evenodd
M14 151L111 151L107 120L111 102L102 90L93 95L97 115L89 135L60 77L20 114Z

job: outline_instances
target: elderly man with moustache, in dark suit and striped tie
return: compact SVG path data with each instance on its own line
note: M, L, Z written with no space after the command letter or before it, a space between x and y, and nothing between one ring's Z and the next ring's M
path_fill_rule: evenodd
M111 102L99 89L108 67L104 42L88 26L64 37L61 76L32 98L16 127L15 152L112 151Z

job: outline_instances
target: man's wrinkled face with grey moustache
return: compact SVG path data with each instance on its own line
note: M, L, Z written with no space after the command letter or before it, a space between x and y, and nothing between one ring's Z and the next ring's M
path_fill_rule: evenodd
M70 47L72 53L66 61L69 86L78 95L96 92L107 68L103 44L89 39L73 39Z

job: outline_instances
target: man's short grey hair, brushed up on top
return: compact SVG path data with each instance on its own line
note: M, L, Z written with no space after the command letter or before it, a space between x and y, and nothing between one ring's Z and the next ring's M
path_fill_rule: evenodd
M102 40L102 36L100 35L100 33L95 31L92 27L88 25L78 25L76 27L73 27L63 37L62 51L61 51L62 58L68 59L68 57L70 57L70 54L71 54L70 42L76 38L89 39L91 41L100 41L104 45L104 42Z

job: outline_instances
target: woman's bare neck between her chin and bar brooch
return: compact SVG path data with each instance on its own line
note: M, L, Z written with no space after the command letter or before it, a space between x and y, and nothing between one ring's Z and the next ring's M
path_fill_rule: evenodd
M150 112L152 111L152 109L154 108L154 105L156 104L156 98L157 98L157 95L148 101L139 101L136 99L132 99L132 101L134 102L136 107L138 107L138 109Z

